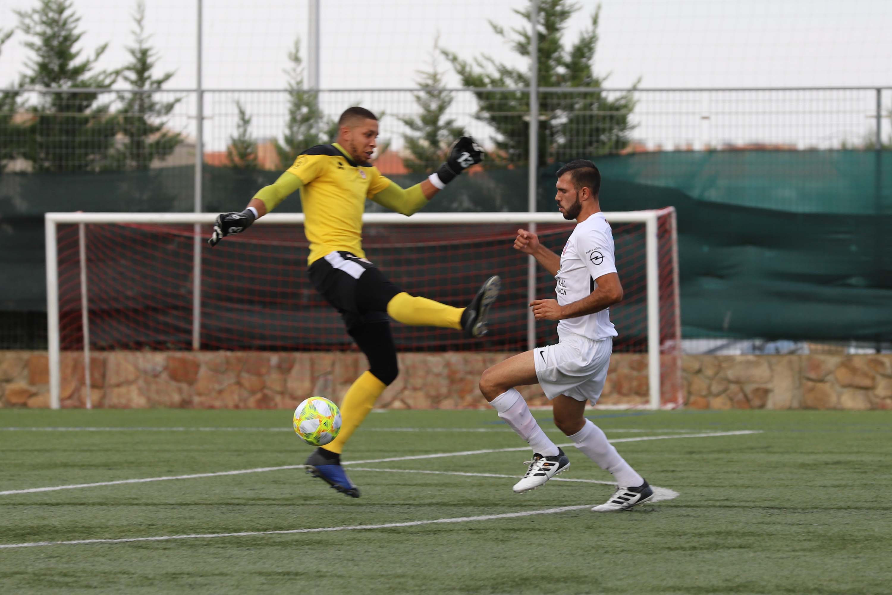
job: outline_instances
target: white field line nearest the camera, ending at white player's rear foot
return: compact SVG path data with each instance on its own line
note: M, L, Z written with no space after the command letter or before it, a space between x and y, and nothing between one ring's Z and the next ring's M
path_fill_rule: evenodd
M5 543L0 544L0 550L12 550L13 548L36 548L45 545L83 545L87 543L129 543L133 541L171 541L178 539L212 539L215 537L252 537L255 535L291 535L293 533L330 533L335 531L359 531L363 529L392 529L394 527L414 527L418 525L442 525L446 523L469 523L472 521L490 521L496 518L516 518L518 516L553 515L569 510L582 510L591 508L591 504L579 506L563 506L560 508L544 508L542 510L524 510L520 512L507 512L500 515L481 516L456 516L452 518L437 518L427 521L409 521L406 523L385 523L384 525L343 525L339 527L319 527L317 529L289 529L285 531L244 531L241 533L197 533L190 535L161 535L159 537L128 537L125 539L84 539L75 541L31 541L30 543Z

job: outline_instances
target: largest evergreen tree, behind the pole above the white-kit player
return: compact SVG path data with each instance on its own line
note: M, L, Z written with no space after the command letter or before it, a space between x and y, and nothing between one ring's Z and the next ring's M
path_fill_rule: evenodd
M539 87L602 87L607 77L595 74L592 62L598 45L600 5L591 16L590 27L568 48L564 46L567 22L580 10L568 0L539 2L538 36ZM515 10L531 21L530 8ZM511 29L490 21L492 30L508 42L519 56L530 59L530 31ZM471 62L458 54L442 54L466 87L529 87L529 72L496 62L483 55ZM637 86L637 83L636 83ZM529 95L526 92L475 92L480 106L477 118L495 128L497 151L492 157L506 161L527 161L529 156ZM539 95L539 154L541 167L549 161L570 161L615 153L629 142L632 124L629 116L635 106L631 93L607 95L603 92L541 93Z

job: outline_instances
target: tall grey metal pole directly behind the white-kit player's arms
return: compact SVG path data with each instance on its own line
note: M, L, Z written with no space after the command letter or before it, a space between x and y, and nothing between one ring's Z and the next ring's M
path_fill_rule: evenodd
M536 169L539 165L539 0L530 3L530 153L527 178L527 211L536 212ZM536 233L536 224L530 223L530 231ZM526 302L536 299L536 259L526 258ZM526 315L526 349L536 346L536 318L533 310Z

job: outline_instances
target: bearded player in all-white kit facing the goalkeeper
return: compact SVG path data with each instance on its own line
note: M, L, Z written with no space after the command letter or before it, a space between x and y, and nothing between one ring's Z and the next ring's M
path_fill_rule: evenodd
M496 364L483 372L480 391L508 426L533 448L526 475L516 493L533 490L570 467L564 451L542 431L515 386L541 384L551 401L555 425L577 449L614 475L618 489L596 512L619 511L653 498L654 492L607 442L598 426L584 417L585 404L601 396L613 338L609 308L622 301L614 262L610 225L601 212L601 176L591 161L570 161L558 169L555 200L564 219L576 219L561 255L539 243L524 229L517 231L516 250L532 254L557 279L557 300L530 304L537 320L558 320L559 342L537 347Z

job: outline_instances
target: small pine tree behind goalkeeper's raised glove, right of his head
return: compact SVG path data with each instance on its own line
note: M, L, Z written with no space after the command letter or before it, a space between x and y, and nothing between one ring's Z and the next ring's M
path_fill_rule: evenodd
M414 94L415 102L421 108L417 118L399 118L412 132L403 134L406 150L411 158L404 160L409 171L417 173L433 171L446 156L450 144L465 134L464 128L457 126L454 119L445 117L452 104L453 96L444 90L443 74L437 63L440 37L434 40L430 70L417 70L415 83L422 90Z

